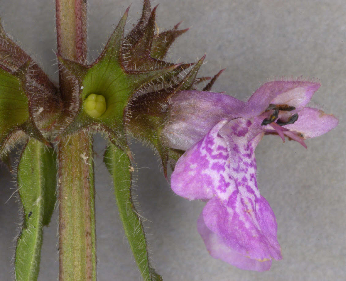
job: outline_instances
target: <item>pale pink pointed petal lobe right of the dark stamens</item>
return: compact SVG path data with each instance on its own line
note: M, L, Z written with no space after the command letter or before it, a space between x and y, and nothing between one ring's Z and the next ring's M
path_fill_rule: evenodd
M284 125L284 127L301 134L304 139L323 135L339 123L334 115L326 114L316 108L305 107L299 111L298 115L297 121L293 124Z

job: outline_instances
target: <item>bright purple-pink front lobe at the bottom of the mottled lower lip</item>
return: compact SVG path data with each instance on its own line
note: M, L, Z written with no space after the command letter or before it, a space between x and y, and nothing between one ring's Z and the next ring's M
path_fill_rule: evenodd
M281 260L275 216L265 198L246 201L237 192L230 201L225 205L214 197L202 211L204 224L218 237L218 244L258 262Z

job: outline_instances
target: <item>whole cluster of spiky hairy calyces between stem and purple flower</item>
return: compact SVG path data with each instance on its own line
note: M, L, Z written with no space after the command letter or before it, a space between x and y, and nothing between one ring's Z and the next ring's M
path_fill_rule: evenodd
M181 73L193 64L172 64L163 61L175 38L188 29L173 29L156 34L156 7L144 1L138 24L124 36L128 10L110 36L97 60L82 65L58 57L65 69L75 77L75 99L80 107L70 112L73 119L63 134L93 128L106 132L113 144L127 150L127 135L149 142L161 156L164 173L171 158L160 134L168 115L169 100L174 93L194 89L205 81L197 78L203 56L186 75ZM207 85L210 89L215 79ZM105 105L91 100L104 97Z

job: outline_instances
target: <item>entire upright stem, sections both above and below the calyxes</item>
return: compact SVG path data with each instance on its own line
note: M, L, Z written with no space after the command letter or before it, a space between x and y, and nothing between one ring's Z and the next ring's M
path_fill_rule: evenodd
M56 0L58 55L86 61L86 1ZM74 81L60 69L64 112L70 115ZM93 150L89 132L58 144L60 280L96 280Z

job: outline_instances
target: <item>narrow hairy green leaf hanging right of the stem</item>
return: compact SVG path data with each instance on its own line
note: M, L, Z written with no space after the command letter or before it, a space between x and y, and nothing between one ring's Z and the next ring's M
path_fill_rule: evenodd
M119 215L142 277L145 281L162 280L149 264L143 225L132 201L133 167L129 157L125 151L110 143L104 153L104 163L111 174Z

